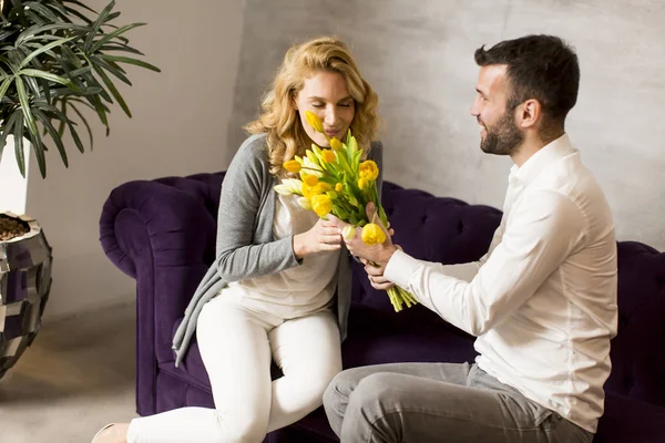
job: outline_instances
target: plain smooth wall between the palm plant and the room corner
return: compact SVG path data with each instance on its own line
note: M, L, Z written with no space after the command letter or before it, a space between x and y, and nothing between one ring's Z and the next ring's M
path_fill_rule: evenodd
M103 9L109 0L88 0ZM225 141L241 50L243 2L117 0L131 43L162 73L129 66L132 87L119 87L132 110L115 106L111 135L94 117L94 151L81 155L68 142L70 167L49 151L48 176L37 163L28 184L27 214L53 247L53 286L44 317L51 319L129 301L135 281L100 246L99 219L109 193L122 183L224 168Z

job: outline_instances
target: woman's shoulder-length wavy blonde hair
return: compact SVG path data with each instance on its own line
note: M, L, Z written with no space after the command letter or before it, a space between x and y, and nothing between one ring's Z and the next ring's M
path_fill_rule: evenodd
M249 134L266 133L273 175L285 175L284 162L305 155L311 145L295 103L305 79L320 71L337 72L346 80L356 102L351 133L365 155L369 153L379 124L379 97L360 76L348 47L336 38L323 37L296 44L286 52L272 89L263 99L260 116L244 127Z

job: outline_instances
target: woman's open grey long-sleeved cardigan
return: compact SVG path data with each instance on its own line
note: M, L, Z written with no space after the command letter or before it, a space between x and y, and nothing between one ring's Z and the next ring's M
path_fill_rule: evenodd
M379 166L379 193L382 155L381 143L372 143L368 158ZM196 288L183 322L175 331L173 350L176 367L187 351L201 309L219 289L231 281L299 266L293 249L293 237L278 240L273 237L277 194L273 188L275 185L277 179L269 173L266 136L253 135L238 150L222 183L222 203L217 216L217 258ZM350 302L351 268L348 251L342 246L337 270L337 321L342 340L346 338Z

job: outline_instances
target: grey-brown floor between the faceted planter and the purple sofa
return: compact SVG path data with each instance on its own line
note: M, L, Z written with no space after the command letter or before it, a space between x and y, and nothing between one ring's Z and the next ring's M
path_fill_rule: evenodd
M122 305L42 324L0 379L0 441L88 443L134 409L134 305Z

